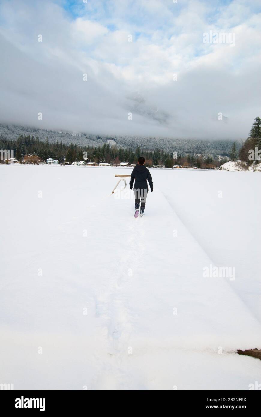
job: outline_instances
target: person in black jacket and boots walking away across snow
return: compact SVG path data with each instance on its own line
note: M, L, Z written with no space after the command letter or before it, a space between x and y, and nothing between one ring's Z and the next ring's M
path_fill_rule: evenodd
M153 191L153 182L151 178L151 173L144 166L145 159L143 156L140 156L138 159L137 165L133 168L133 171L131 173L131 181L130 181L130 188L132 190L133 182L134 183L134 196L135 196L135 214L134 217L138 217L139 215L139 207L141 203L141 213L140 216L143 216L144 209L145 209L145 203L148 193L148 183L151 187L151 192ZM148 180L148 183L147 183Z

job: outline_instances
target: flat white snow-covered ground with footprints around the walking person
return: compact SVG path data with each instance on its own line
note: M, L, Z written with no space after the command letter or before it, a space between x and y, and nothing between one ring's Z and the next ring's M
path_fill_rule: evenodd
M235 353L261 349L259 174L151 169L134 219L115 173L131 169L0 165L0 383L260 383L261 361ZM231 273L204 276L215 266Z

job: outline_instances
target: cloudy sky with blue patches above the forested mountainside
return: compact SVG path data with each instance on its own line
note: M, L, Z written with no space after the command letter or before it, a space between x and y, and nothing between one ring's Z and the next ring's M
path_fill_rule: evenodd
M260 12L259 0L0 1L0 122L246 138L261 116ZM235 45L203 43L210 31Z

